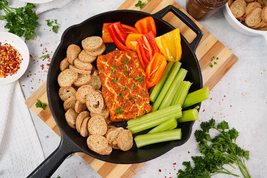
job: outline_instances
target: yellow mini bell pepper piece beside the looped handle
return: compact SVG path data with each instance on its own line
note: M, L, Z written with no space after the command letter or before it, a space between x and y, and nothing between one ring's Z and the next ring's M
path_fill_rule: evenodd
M179 28L155 38L161 53L169 62L180 61L182 56L181 36Z

